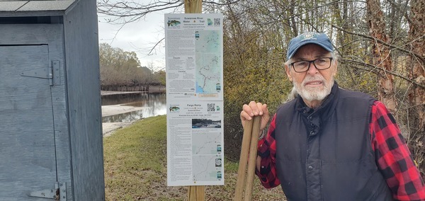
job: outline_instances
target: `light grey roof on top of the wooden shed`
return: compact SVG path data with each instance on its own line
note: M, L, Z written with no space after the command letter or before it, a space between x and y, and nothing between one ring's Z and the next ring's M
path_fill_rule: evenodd
M0 13L5 12L37 12L37 11L66 11L76 0L0 0Z

